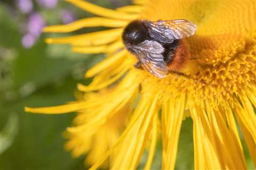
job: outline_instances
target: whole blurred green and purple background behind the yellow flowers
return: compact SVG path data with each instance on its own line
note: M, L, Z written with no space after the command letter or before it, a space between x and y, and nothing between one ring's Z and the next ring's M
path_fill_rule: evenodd
M130 4L129 0L91 1L108 8ZM84 157L72 158L63 149L62 132L75 113L30 114L24 106L54 106L75 100L76 84L87 84L85 71L103 55L75 54L66 45L46 45L45 25L66 24L92 16L62 0L0 1L0 169L84 169ZM86 28L72 35L102 30ZM67 36L67 34L66 34ZM193 124L182 125L177 169L193 168ZM161 168L161 141L153 168ZM249 154L245 148L246 157ZM139 167L145 163L142 156ZM252 162L247 159L252 167Z

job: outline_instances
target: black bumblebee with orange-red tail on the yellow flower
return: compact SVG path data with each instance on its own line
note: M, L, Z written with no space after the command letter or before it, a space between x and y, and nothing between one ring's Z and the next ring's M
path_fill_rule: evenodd
M196 29L196 24L187 20L135 20L125 27L122 38L126 49L139 60L135 67L142 65L158 78L170 72L187 77L179 72L189 58L182 39L193 36Z

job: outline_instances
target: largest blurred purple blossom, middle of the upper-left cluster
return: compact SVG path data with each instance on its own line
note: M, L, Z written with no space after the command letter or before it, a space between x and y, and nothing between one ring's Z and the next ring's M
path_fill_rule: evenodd
M29 16L27 24L27 32L38 38L45 26L45 21L43 17L38 13L33 13Z

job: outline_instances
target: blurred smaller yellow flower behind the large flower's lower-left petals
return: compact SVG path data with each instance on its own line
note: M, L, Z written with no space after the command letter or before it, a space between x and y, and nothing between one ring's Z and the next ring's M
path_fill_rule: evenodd
M78 100L78 103L79 101L83 102L83 100L86 100L87 104L94 103L95 101L102 100L102 97L107 97L109 92L111 92L111 89L101 90L97 93L87 93ZM131 114L131 111L130 105L123 106L118 112L109 116L106 121L93 124L93 127L90 128L90 124L87 123L90 122L91 116L93 116L92 114L102 111L101 108L99 108L98 111L97 108L84 108L78 112L74 120L76 126L69 128L68 132L65 133L65 137L69 139L65 148L67 150L73 150L72 155L74 157L79 157L87 153L85 163L86 165L93 165L111 146L114 146L125 128L126 118ZM84 124L87 124L87 128L90 129L90 131L81 130L80 127ZM115 155L111 155L110 162L114 157ZM105 168L108 166L108 163L103 165Z

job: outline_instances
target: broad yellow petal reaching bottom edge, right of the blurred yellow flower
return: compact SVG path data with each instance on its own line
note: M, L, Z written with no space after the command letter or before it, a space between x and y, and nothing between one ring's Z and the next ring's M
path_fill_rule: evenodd
M155 96L156 95L156 96ZM148 139L148 131L154 115L159 107L157 106L158 95L142 95L139 106L135 109L133 117L138 118L126 139L118 149L118 158L115 160L113 169L135 169L139 163L140 156L145 148ZM133 121L133 117L131 121Z

